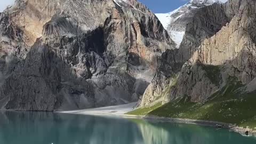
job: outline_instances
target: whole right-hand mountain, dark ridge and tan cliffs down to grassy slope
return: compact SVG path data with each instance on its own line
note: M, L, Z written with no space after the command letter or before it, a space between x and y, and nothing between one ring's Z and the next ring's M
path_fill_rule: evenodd
M139 108L130 114L255 130L255 7L253 0L229 0L199 8L186 25L180 49L163 53Z

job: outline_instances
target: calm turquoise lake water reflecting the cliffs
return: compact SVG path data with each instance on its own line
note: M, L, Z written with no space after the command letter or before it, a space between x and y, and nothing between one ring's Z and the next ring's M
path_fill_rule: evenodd
M214 127L118 117L0 111L1 144L251 144Z

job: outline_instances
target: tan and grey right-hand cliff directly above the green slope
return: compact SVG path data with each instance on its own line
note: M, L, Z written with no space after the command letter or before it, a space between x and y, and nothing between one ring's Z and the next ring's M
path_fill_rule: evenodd
M255 78L255 1L229 1L225 12L231 21L217 34L206 38L182 67L177 84L164 103L188 96L200 102L237 79L242 85ZM243 89L237 90L244 93ZM251 90L253 91L253 90Z

